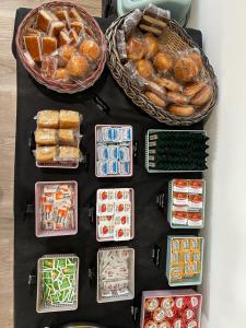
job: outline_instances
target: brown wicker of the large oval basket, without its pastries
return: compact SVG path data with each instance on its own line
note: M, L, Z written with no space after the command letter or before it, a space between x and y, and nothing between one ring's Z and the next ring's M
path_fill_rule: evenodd
M124 69L124 66L120 62L117 49L117 31L120 30L125 19L129 14L130 13L127 13L114 21L105 34L108 52L107 65L115 80L137 106L141 107L151 117L161 122L165 122L169 126L190 126L204 119L212 112L216 103L218 85L213 68L209 63L209 59L206 57L202 49L200 49L200 52L204 63L204 75L213 81L213 96L202 109L197 110L192 116L181 117L173 115L167 109L154 105L142 93L140 93L139 87L131 81L131 77ZM199 48L199 46L190 38L186 31L173 20L169 20L167 26L165 27L165 46L172 52L184 51L195 47Z

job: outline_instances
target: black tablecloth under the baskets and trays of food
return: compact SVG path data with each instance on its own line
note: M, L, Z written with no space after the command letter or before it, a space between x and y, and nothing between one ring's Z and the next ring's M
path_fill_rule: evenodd
M15 30L26 14L26 9L16 13ZM103 30L108 21L98 20ZM201 45L201 34L189 30ZM15 47L13 44L13 54ZM14 321L15 328L57 327L71 320L87 320L108 328L133 327L130 307L132 302L96 303L96 286L90 284L89 268L94 263L99 245L95 227L90 224L87 211L95 201L97 188L132 187L136 190L136 237L122 245L136 249L136 303L139 305L143 290L168 289L165 278L166 236L194 234L196 231L172 231L164 213L157 209L159 191L167 191L167 181L173 177L200 177L200 174L148 174L144 169L144 134L149 128L168 128L138 109L105 71L90 90L75 95L63 95L49 91L36 83L17 62L17 113L14 177ZM98 94L112 108L110 115L102 112L92 99ZM35 129L33 117L43 108L71 108L83 114L84 143L90 152L90 165L79 169L40 169L35 166L28 148L30 132ZM139 141L139 156L132 178L98 179L94 172L94 126L96 124L128 124L133 126L134 140ZM202 124L192 128L202 128ZM45 180L75 179L79 183L79 233L75 236L37 238L34 214L25 215L26 203L34 203L34 184ZM161 266L155 267L151 255L152 246L162 247ZM117 244L119 245L119 244ZM36 288L27 284L28 274L35 272L39 257L47 254L74 253L80 257L79 308L75 312L37 314L35 309Z

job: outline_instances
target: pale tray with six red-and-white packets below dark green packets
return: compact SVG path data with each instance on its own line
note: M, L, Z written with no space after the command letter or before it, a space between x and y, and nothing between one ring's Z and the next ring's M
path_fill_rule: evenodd
M200 229L204 224L206 183L203 179L169 181L168 221L172 227Z

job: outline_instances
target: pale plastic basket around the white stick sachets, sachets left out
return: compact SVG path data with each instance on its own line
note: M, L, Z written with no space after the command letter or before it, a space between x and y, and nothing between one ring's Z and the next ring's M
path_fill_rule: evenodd
M122 254L118 254L122 253ZM107 295L103 294L102 284L103 278L105 278L105 266L103 263L103 257L109 257L114 255L118 260L122 260L124 254L127 255L127 267L128 274L124 280L127 280L127 293L125 288L119 288L120 290L116 293L108 293ZM108 266L113 263L110 258L106 262ZM118 278L118 274L116 274ZM112 282L112 276L108 277L108 282ZM117 280L117 283L121 283L122 280ZM134 249L129 247L108 247L102 248L97 253L97 292L96 300L98 303L108 303L108 302L118 302L118 301L127 301L134 298Z

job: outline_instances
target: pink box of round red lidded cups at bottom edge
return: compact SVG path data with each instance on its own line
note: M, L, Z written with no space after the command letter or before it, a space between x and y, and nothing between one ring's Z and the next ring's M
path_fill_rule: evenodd
M200 327L202 298L191 290L143 292L142 302L141 328Z

